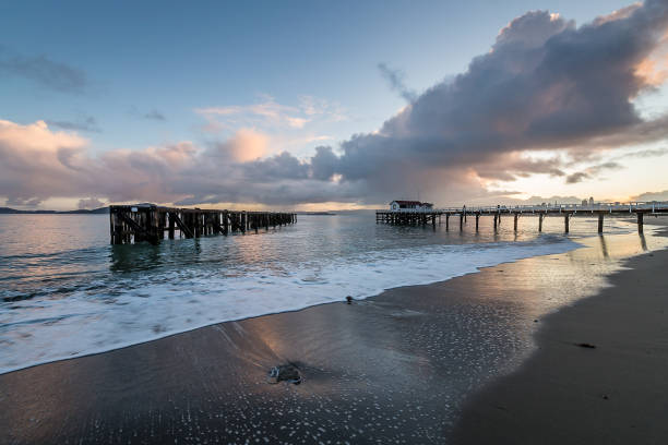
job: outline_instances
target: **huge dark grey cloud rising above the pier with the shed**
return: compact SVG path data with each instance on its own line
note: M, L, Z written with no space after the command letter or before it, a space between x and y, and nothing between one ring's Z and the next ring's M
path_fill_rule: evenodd
M526 151L561 151L585 160L601 149L665 139L668 117L645 121L633 100L652 86L636 68L660 48L667 28L665 1L648 0L581 27L546 11L528 12L465 73L426 91L378 132L345 141L327 166L373 192L436 185L446 197L448 178L474 187L476 176L563 173L558 159L518 163Z

